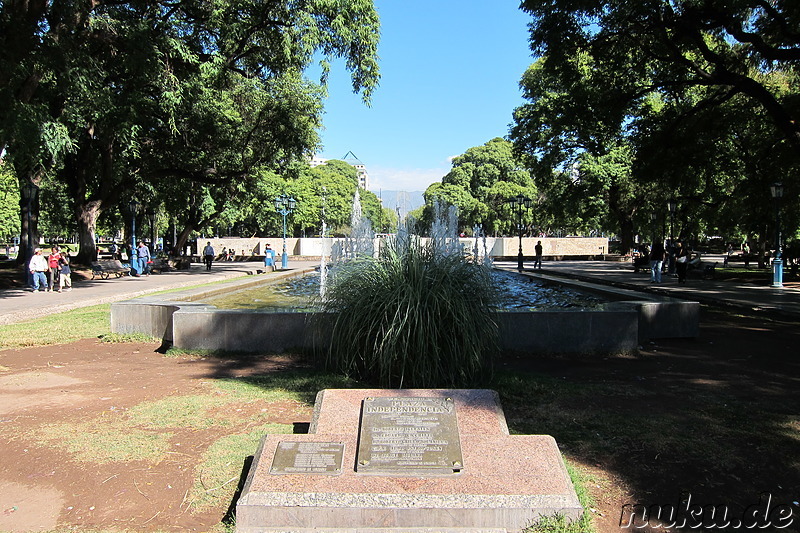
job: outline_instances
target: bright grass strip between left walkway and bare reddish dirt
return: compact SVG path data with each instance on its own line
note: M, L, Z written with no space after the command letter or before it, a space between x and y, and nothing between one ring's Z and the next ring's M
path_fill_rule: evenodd
M0 349L65 344L111 333L111 304L93 305L0 326Z

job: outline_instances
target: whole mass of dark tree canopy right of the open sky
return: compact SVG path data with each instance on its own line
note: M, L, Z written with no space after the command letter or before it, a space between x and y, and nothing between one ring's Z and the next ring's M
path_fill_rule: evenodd
M620 234L774 234L796 205L800 5L781 0L524 0L538 56L511 138L554 214ZM604 205L587 205L587 199ZM784 218L790 234L796 210ZM580 221L577 221L580 222ZM597 222L594 222L597 223ZM663 230L662 230L663 231Z

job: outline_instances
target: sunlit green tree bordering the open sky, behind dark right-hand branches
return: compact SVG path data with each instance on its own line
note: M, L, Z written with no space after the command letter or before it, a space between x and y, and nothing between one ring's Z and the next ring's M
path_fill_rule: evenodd
M623 253L633 248L633 218L649 189L633 172L635 152L626 124L629 115L599 116L604 89L591 57L576 54L554 72L548 58L525 72L521 86L528 104L514 111L515 150L526 157L542 190L540 203L561 227L584 231L611 228Z

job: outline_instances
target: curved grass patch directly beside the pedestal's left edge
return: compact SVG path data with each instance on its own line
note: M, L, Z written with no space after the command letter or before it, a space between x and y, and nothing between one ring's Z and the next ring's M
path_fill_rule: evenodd
M253 455L267 433L292 433L287 424L266 424L247 433L222 437L209 446L195 472L189 490L189 505L194 512L223 507L230 503L242 474L244 460Z

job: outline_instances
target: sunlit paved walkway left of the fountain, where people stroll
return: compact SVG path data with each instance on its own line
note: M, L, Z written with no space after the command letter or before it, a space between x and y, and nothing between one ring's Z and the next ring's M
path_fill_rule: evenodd
M319 262L290 261L289 269L318 266ZM124 276L101 280L84 280L75 283L70 292L32 293L29 290L0 291L0 325L32 320L41 316L136 298L153 292L191 287L238 277L255 275L264 271L264 263L218 262L211 271L202 264L193 264L189 270L152 274L139 278Z

